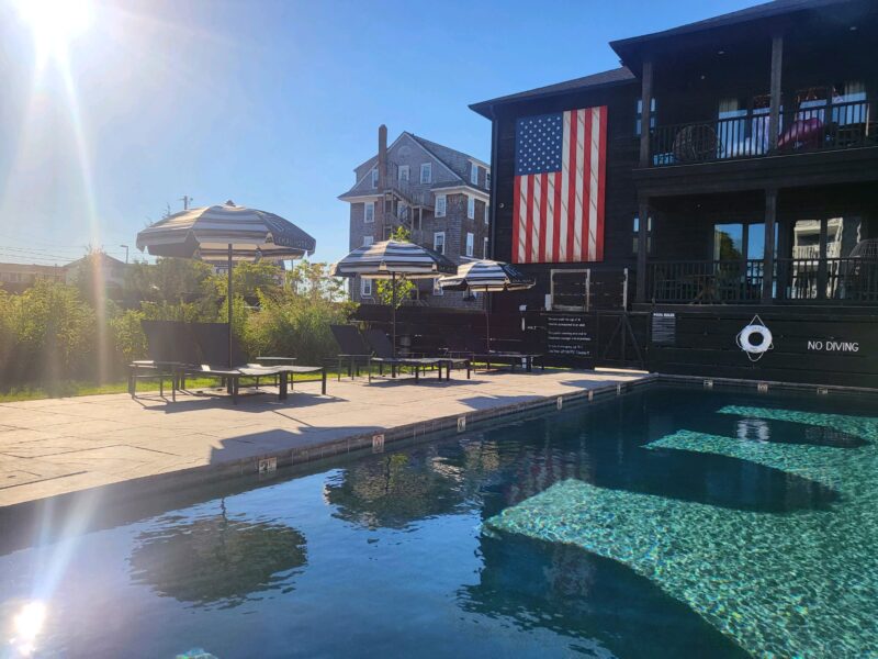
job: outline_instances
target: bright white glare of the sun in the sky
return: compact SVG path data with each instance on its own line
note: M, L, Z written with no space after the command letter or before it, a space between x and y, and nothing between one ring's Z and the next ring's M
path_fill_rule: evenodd
M18 12L40 59L66 60L70 42L91 25L93 8L90 0L18 0Z

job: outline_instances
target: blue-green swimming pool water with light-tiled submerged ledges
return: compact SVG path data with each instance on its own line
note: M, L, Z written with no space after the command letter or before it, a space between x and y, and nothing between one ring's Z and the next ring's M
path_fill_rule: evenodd
M651 387L95 498L0 556L0 657L878 656L877 444L874 400Z

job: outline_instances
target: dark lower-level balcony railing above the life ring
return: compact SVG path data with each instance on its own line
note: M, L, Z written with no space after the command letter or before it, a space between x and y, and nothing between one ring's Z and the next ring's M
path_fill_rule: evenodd
M648 300L665 304L754 304L763 295L762 260L652 261ZM780 258L772 298L789 303L878 304L878 259Z

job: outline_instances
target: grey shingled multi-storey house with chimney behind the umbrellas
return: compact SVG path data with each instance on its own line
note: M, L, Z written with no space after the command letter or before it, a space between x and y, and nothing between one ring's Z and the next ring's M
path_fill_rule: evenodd
M413 242L455 263L486 257L491 168L408 132L387 145L384 125L378 142L378 154L354 168L353 187L339 196L350 203L350 248L384 241L404 226ZM353 280L351 298L374 303L373 282ZM482 302L421 281L414 303L474 308Z

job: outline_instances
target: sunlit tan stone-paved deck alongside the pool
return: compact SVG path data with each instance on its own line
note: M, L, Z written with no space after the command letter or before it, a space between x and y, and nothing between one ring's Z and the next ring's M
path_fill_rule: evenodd
M273 471L384 443L457 429L514 412L618 394L652 376L638 371L454 371L448 382L331 379L241 396L158 392L0 404L0 509L116 484L179 487ZM143 490L140 490L143 491Z

